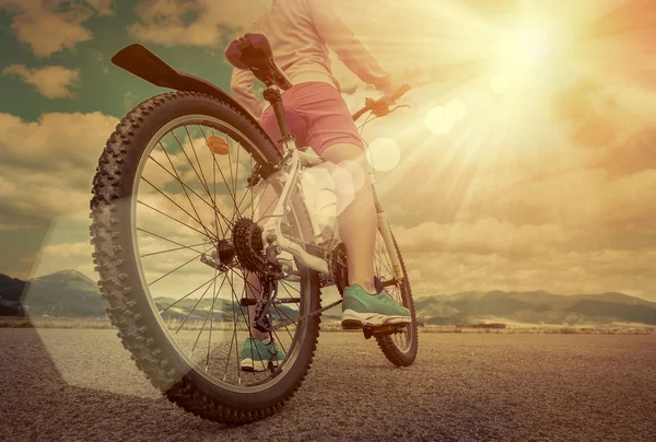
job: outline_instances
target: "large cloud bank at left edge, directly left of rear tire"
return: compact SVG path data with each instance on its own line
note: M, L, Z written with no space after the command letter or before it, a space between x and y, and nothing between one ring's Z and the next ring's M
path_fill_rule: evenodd
M85 211L95 165L118 119L102 113L0 114L0 226L28 229Z

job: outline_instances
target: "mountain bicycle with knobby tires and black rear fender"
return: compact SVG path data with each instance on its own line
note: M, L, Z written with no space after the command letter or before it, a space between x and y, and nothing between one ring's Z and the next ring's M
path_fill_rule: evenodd
M107 314L137 367L185 410L245 423L273 414L301 386L321 313L341 302L321 306L321 289L343 291L348 257L307 207L304 172L321 159L298 150L289 131L280 90L291 84L268 40L247 34L226 57L267 86L284 154L227 93L143 46L127 46L114 65L174 92L137 105L109 137L93 181L90 232ZM367 100L354 118L384 116L389 107ZM256 219L266 191L276 198L265 219ZM406 305L412 321L363 333L391 363L410 365L418 348L410 283L374 195L376 286ZM253 275L259 296L248 282ZM248 373L239 370L238 345L253 327L286 358Z

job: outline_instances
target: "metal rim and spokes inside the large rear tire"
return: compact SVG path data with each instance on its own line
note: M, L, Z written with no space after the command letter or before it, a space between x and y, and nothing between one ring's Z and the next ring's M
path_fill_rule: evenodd
M206 146L210 137L223 139L229 153L212 154ZM245 190L254 156L265 158L224 121L203 115L176 118L147 144L130 206L139 280L160 328L191 370L236 393L258 393L284 377L307 334L307 322L298 323L294 315L297 318L309 310L309 296L301 295L301 284L281 281L279 299L297 300L272 309L274 317L292 322L272 336L286 359L272 372L239 369L242 344L251 337L248 314L238 304L249 284L248 271L236 257L224 263L216 253L214 267L200 258L204 254L212 261L219 243L230 243L235 220L255 220L261 211L257 193ZM297 229L298 220L292 224Z

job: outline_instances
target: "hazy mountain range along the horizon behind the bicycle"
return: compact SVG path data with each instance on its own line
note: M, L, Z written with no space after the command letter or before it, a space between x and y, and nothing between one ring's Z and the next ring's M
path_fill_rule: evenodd
M213 309L215 321L232 321L234 313L243 322L245 307L230 300L157 298L155 304L165 318L204 321ZM96 283L78 271L58 271L30 281L0 275L0 316L49 314L57 316L105 316L105 301ZM546 291L470 291L414 300L417 316L424 324L458 325L482 322L506 324L594 325L640 323L656 325L656 303L623 293L561 295ZM273 315L296 319L290 304L277 306ZM341 307L324 312L339 319Z

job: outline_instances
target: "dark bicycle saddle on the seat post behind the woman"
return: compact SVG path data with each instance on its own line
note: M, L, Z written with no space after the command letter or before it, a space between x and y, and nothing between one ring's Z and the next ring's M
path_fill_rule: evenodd
M273 61L273 49L265 34L246 34L227 46L225 58L237 69L250 69L255 77L270 88L277 85L283 91L292 83Z

